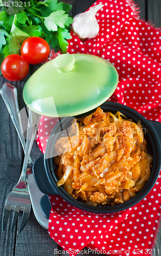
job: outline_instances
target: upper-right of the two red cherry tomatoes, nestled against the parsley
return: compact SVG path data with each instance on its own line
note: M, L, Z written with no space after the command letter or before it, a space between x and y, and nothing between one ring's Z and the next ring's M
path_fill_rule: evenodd
M29 64L39 64L45 61L49 55L50 48L47 42L37 36L31 36L24 40L21 46L21 55Z

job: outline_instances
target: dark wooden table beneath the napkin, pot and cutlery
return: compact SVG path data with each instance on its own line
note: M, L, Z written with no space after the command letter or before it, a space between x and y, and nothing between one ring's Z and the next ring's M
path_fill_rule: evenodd
M77 13L86 11L95 1L65 0L64 2L72 5L71 15L74 17ZM140 7L141 19L151 22L155 27L161 27L161 0L135 0L135 4ZM25 106L22 98L24 83L38 67L30 66L28 77L18 82L12 82L17 88L20 110ZM3 76L0 76L0 88L6 81ZM63 249L49 237L47 230L37 222L32 209L29 220L20 235L18 234L18 228L21 217L19 217L13 233L10 233L9 223L6 231L2 232L2 213L5 200L19 179L23 152L2 97L0 97L0 113L0 256L51 256L54 255L55 248L61 250L61 254L64 254ZM33 161L41 154L36 142L34 142L31 154ZM160 255L159 252L161 253L160 231L155 242L155 254L153 254L155 256Z

